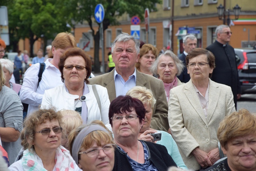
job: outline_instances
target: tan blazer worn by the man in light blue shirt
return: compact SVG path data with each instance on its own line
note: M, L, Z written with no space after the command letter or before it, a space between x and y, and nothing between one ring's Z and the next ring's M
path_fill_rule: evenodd
M115 70L113 69L109 73L89 79L89 84L99 84L106 87L110 102L116 98L114 71ZM151 75L141 73L136 69L136 86L151 89L156 99L156 104L154 105L154 109L152 111L151 128L168 131L168 104L163 82Z

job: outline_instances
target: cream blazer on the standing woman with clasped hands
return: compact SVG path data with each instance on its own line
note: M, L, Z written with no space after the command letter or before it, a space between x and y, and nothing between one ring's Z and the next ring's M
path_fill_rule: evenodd
M172 136L188 169L200 169L191 152L199 147L208 153L218 147L217 129L226 115L235 112L229 86L210 81L208 115L205 118L196 90L188 83L170 90L168 120Z

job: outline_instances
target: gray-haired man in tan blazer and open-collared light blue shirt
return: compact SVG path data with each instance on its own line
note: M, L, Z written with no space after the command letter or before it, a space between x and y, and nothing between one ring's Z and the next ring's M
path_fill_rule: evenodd
M127 33L121 33L114 40L111 53L115 69L89 79L90 84L106 87L110 102L119 95L126 95L126 92L134 86L151 89L156 99L152 111L151 127L156 130L168 131L168 104L163 82L151 75L141 73L135 68L135 63L140 57L140 41Z

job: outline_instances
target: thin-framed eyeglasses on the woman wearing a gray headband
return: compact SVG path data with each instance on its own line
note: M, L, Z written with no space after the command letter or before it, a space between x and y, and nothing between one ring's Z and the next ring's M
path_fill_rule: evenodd
M78 154L86 154L88 157L97 157L102 149L105 154L114 152L115 144L106 144L102 148L89 148L85 152L79 152Z

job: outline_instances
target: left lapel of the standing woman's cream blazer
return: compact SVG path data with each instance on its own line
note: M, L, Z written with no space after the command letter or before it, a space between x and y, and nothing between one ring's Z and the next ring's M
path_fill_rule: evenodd
M198 113L198 115L201 117L201 119L203 120L203 122L207 125L205 116L204 116L204 112L202 109L202 106L200 104L200 101L198 99L196 90L194 88L194 85L192 83L192 80L190 79L189 82L186 84L186 86L184 86L184 91L185 91L185 95L187 96L190 104L193 106L193 108L195 109L195 111Z

